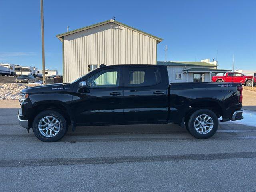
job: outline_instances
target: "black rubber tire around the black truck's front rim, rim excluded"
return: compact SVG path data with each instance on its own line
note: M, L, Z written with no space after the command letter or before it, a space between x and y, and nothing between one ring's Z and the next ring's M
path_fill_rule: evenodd
M53 137L46 137L42 135L39 131L38 124L40 120L46 116L55 117L60 122L60 130ZM62 114L53 110L46 110L46 111L40 112L33 121L33 132L35 136L43 142L56 142L60 140L62 137L64 137L67 131L68 131L68 124L66 122L66 119Z

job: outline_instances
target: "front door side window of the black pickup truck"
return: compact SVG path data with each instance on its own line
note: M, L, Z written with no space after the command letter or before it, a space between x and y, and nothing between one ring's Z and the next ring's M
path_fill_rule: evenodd
M102 70L86 80L86 84L92 88L97 87L118 87L119 69Z

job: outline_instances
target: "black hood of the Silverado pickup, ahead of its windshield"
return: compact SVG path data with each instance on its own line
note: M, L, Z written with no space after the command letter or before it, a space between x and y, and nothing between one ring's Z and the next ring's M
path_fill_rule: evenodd
M41 85L35 87L29 87L23 89L21 92L23 93L40 93L40 92L60 92L60 91L70 91L72 90L72 84L62 84L62 83L55 83L50 85Z

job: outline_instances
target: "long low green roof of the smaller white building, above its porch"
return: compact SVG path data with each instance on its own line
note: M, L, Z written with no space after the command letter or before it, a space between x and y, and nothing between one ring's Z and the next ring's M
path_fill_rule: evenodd
M193 62L193 61L158 61L158 65L166 66L205 66L205 67L216 67L218 65L206 62Z

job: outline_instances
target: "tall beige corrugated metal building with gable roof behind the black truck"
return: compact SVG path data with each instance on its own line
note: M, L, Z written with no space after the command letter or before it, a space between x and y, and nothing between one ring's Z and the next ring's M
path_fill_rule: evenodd
M156 64L161 38L107 20L56 35L63 45L64 82L72 82L100 64Z

